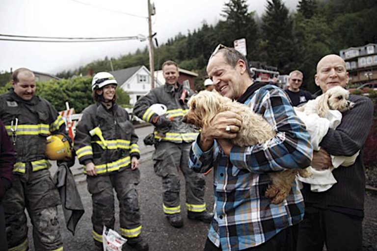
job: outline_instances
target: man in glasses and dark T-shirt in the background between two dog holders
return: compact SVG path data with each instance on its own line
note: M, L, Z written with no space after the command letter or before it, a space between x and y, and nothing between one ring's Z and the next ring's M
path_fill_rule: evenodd
M307 101L313 99L310 92L300 89L303 76L304 75L302 74L302 72L298 70L295 70L289 74L289 86L288 89L285 90L285 92L291 99L293 106L300 106L301 104L305 104Z

